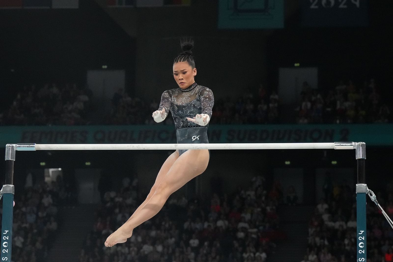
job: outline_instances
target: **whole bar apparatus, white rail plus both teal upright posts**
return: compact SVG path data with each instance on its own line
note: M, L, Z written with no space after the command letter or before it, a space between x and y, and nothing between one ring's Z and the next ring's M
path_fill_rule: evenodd
M244 143L244 144L7 144L6 145L6 181L1 189L3 196L2 240L4 247L1 260L11 261L12 229L13 229L13 170L15 152L35 150L173 150L173 149L355 149L358 161L358 183L356 184L356 231L357 258L367 258L366 234L366 194L365 184L365 143ZM360 242L362 241L362 242Z

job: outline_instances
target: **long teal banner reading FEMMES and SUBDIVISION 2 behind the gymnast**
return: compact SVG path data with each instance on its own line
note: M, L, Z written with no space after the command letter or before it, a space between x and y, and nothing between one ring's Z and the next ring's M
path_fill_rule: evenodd
M368 125L211 125L210 143L365 142L393 145L393 124ZM176 143L172 125L0 126L0 145L7 143Z

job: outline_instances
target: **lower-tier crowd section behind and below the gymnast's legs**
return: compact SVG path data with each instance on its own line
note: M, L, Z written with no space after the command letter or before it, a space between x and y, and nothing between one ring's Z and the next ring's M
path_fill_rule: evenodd
M214 193L208 202L175 193L127 242L107 248L107 236L144 200L138 181L125 178L121 190L104 194L79 262L264 262L279 235L276 208L281 197L281 187L267 190L262 176L233 194Z

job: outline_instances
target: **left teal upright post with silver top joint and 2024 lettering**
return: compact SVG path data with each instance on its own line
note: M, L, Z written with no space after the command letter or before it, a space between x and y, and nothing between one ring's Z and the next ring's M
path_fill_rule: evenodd
M3 216L1 231L1 261L11 262L12 250L12 224L13 224L13 203L15 187L13 185L14 178L14 162L17 145L6 145L6 181L1 189L3 198Z

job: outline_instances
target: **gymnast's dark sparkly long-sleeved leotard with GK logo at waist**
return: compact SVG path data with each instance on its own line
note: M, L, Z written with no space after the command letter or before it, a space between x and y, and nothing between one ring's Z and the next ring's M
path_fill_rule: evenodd
M176 88L163 92L158 110L165 108L165 117L169 110L171 111L178 144L209 143L208 125L200 126L187 120L187 117L208 114L211 118L213 104L213 92L206 86L194 82L186 89ZM179 156L185 151L187 150L179 150Z

